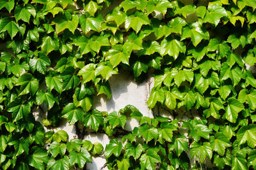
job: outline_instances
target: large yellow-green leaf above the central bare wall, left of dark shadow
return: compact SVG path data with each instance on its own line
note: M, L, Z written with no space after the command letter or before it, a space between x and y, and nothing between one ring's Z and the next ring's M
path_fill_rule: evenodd
M129 65L130 55L128 52L122 49L122 45L113 45L111 49L106 53L106 59L108 59L115 68L119 63Z

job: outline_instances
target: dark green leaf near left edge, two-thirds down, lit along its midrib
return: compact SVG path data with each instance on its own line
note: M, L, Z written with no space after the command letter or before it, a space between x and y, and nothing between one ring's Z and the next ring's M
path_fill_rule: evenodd
M22 100L18 99L8 105L8 112L12 112L13 121L18 121L26 118L30 113L29 104L23 104Z

